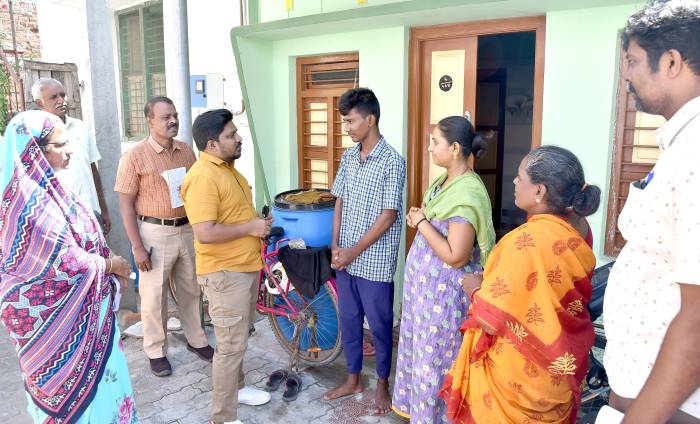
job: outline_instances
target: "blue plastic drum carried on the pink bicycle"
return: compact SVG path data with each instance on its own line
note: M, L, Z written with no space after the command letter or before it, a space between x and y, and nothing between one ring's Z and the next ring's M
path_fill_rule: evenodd
M309 247L330 246L335 199L310 205L301 205L285 199L287 195L301 191L304 190L285 191L275 196L272 205L272 225L284 229L282 238L301 238ZM317 191L330 193L330 190Z

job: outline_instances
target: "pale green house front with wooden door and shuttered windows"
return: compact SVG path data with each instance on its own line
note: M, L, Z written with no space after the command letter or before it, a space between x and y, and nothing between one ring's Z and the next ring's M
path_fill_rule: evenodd
M251 0L251 24L234 28L231 41L262 159L258 203L269 201L263 173L273 195L332 184L350 145L332 108L348 87L365 86L381 103L381 132L407 159L408 206L437 175L426 152L430 129L468 111L492 136L492 154L475 169L500 232L525 218L512 197L520 159L556 144L572 150L588 183L603 191L589 222L599 264L612 260L624 243L615 223L626 185L646 175L658 153L659 119L637 113L620 80L619 32L644 4Z

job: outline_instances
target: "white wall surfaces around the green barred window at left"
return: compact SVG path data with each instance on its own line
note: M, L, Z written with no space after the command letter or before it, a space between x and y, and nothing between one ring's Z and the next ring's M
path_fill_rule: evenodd
M88 0L89 1L89 0ZM113 1L119 10L136 6L141 2ZM114 10L115 12L117 10ZM188 37L190 73L192 75L222 74L224 81L224 102L227 109L238 111L242 107L242 94L236 72L230 31L240 24L239 2L220 0L191 0L188 2ZM39 35L41 38L41 60L44 62L71 62L78 66L78 79L82 82L81 104L83 120L93 127L93 106L90 84L90 57L88 54L87 23L82 1L41 1L37 3ZM115 46L115 66L117 89L121 93L119 80L119 57L117 55L116 21L110 22ZM167 72L167 69L166 69ZM121 99L116 98L121 114ZM205 109L192 109L192 118ZM235 118L236 126L244 139L243 156L236 167L255 187L253 147L246 115ZM121 116L114 117L114 125L119 127L123 138ZM185 125L182 123L182 125ZM128 148L127 143L123 149ZM195 148L196 150L196 148ZM106 158L105 158L106 159Z

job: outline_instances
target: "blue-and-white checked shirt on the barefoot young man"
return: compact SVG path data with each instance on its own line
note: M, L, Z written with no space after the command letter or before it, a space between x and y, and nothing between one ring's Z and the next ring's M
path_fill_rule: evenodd
M406 162L384 137L364 160L360 147L358 143L343 153L331 191L343 199L338 247L352 247L385 209L396 210L389 230L346 268L355 277L392 282L401 240Z

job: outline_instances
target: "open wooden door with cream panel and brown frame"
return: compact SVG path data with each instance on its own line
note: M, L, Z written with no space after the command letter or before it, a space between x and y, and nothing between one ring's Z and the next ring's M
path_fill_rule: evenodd
M532 147L540 145L542 132L542 87L544 85L545 17L534 16L513 19L465 22L450 25L413 28L409 47L408 82L408 204L419 206L430 182L442 172L430 162L427 151L430 132L437 122L450 115L464 115L469 111L472 123L484 132L496 131L491 155L477 163L475 169L491 186L492 199L498 199L502 186L503 116L498 122L480 127L476 110L479 81L477 75L478 39L480 36L512 32L535 32L534 96L532 110ZM449 77L449 78L448 78ZM483 81L481 90L491 89L504 101L503 78ZM448 88L449 87L449 88ZM497 105L498 106L498 105ZM502 109L501 106L498 106ZM491 146L490 146L491 147ZM488 159L488 160L487 160ZM496 204L493 205L498 210ZM408 229L407 245L415 231Z

